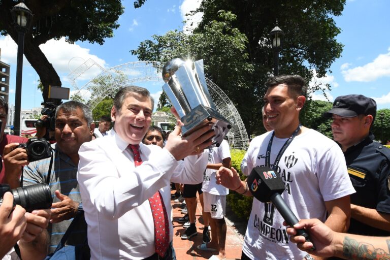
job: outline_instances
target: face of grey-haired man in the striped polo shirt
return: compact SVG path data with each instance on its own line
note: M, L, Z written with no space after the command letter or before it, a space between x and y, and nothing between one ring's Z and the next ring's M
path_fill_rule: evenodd
M74 111L57 112L55 119L55 140L61 151L68 156L78 154L80 146L89 142L93 129L88 125L80 108Z

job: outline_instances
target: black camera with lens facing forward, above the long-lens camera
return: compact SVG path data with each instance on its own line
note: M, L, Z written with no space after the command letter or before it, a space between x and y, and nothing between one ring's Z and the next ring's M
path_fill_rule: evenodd
M36 161L51 156L50 143L45 138L31 138L27 143L20 144L17 148L26 149L28 160Z

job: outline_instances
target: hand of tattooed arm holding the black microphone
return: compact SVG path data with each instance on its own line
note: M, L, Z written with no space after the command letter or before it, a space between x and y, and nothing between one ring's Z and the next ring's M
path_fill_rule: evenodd
M284 222L285 225L287 225ZM335 255L335 246L333 244L336 232L331 230L326 224L318 219L302 219L294 225L295 229L305 229L310 235L311 241L316 249L310 251L313 246L311 242L305 242L304 236L297 236L297 231L293 228L287 228L287 234L290 235L290 241L296 243L298 248L310 254L330 257Z

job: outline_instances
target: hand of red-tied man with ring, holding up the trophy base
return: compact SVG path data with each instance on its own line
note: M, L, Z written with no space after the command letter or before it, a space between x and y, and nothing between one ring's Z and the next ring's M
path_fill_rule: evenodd
M202 153L203 150L212 144L210 140L215 134L212 131L211 124L204 124L197 131L194 131L186 137L181 137L180 120L177 120L174 131L169 135L167 144L164 149L167 149L176 160L181 160L188 155L196 155Z

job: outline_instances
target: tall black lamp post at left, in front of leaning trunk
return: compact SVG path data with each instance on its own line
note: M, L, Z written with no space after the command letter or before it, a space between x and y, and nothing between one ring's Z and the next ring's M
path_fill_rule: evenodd
M23 71L23 52L24 52L24 34L31 24L32 13L24 3L19 3L11 9L12 20L18 31L18 56L16 60L16 89L15 89L15 117L14 117L14 135L20 134L20 109L22 98L22 71Z

